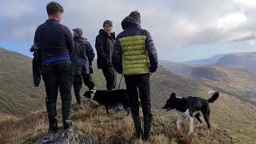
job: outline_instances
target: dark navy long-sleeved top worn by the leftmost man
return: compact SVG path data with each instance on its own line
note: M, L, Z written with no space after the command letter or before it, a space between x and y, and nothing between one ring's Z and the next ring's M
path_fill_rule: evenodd
M34 43L40 47L42 62L69 55L74 51L71 31L54 19L48 19L38 26L34 34Z

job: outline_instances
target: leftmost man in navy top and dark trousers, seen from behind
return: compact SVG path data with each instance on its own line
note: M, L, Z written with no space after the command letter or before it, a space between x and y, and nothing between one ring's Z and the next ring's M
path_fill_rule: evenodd
M58 89L62 99L63 127L71 126L71 88L73 83L73 66L70 54L74 51L73 35L67 26L60 24L63 7L57 2L46 6L48 19L38 26L34 34L34 43L40 49L42 62L42 79L46 86L46 109L49 119L49 130L58 130L56 119L56 102Z

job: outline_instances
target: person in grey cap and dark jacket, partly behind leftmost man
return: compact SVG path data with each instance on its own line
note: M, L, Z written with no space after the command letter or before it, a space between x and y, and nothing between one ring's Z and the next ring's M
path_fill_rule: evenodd
M70 55L70 59L74 67L74 94L78 104L80 104L82 99L80 96L82 80L89 90L95 90L94 81L90 76L90 73L93 73L92 62L95 54L90 42L88 42L86 38L82 37L82 30L76 28L73 32L74 53Z

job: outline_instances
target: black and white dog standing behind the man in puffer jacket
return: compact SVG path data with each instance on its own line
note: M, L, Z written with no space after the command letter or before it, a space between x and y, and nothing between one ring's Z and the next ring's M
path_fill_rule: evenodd
M84 96L104 105L106 114L109 114L110 106L117 106L119 103L122 103L123 108L130 114L127 90L90 90L86 91Z

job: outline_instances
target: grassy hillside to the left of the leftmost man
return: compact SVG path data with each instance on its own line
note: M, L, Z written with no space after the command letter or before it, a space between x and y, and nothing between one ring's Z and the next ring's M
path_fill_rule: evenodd
M25 114L41 107L44 90L34 88L31 59L0 48L0 114Z

